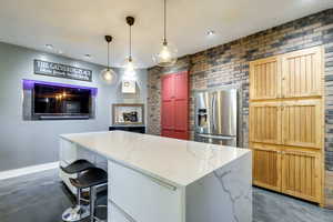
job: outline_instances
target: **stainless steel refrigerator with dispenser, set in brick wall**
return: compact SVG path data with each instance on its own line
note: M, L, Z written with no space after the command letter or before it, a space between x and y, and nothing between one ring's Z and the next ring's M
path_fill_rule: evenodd
M195 93L194 140L238 145L238 90L220 89Z

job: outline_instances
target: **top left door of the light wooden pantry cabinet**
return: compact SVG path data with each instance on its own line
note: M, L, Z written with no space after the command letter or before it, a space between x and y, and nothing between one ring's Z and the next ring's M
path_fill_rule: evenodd
M250 99L276 99L281 95L281 62L279 57L250 62Z

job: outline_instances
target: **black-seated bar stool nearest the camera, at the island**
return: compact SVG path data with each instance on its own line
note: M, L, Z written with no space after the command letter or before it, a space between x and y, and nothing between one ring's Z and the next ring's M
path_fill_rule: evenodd
M70 182L73 186L79 190L90 189L90 220L93 222L94 220L101 221L95 216L95 202L97 202L97 189L108 184L108 173L100 168L91 168L84 171L77 179L70 179ZM108 191L104 191L108 194ZM99 196L103 195L103 192L99 194ZM99 206L99 205L98 205ZM81 216L80 220L83 218Z

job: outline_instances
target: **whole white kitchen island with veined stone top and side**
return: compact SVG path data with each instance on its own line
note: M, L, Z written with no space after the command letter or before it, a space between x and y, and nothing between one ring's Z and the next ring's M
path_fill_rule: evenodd
M250 150L123 131L62 134L60 149L62 165L108 170L108 221L252 221Z

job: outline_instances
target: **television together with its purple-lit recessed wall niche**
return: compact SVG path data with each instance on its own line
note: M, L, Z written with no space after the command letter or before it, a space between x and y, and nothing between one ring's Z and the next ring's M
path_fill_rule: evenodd
M92 119L97 88L23 80L26 120Z

